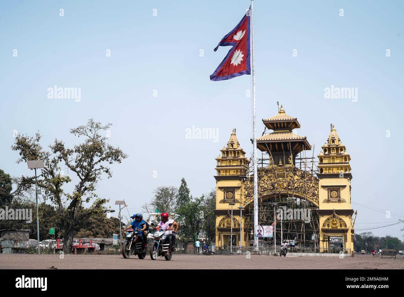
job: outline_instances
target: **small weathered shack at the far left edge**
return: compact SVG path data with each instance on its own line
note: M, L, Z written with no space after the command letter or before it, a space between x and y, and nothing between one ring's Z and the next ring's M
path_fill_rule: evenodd
M25 254L28 249L29 230L0 230L0 251L4 254Z

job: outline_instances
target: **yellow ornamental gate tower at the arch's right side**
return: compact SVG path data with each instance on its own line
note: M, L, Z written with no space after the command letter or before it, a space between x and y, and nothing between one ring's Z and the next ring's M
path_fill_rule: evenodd
M351 208L351 157L334 125L318 155L320 248L328 249L332 238L342 238L345 251L353 253Z

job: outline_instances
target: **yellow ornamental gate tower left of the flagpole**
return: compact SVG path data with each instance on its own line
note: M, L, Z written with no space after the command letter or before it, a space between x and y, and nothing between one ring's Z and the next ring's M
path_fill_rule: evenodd
M216 158L216 245L230 245L231 208L233 208L233 245L240 244L240 209L242 206L242 184L248 172L249 160L240 147L236 129L230 135L227 145ZM233 206L229 204L234 204ZM242 228L242 245L246 236Z

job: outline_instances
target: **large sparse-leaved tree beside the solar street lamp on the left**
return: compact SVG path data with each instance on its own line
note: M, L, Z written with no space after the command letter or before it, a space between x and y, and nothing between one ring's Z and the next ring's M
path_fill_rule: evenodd
M44 197L57 205L64 232L64 253L70 253L80 221L103 211L107 200L100 198L95 190L103 174L106 174L107 178L112 177L112 171L107 164L121 163L127 158L119 147L109 145L108 138L101 135L102 132L106 133L111 125L102 125L90 119L86 125L70 129L73 135L84 137L84 141L73 148L67 148L62 141L55 139L55 142L49 145L51 152L47 152L39 144L39 133L36 133L35 137L17 135L12 146L21 156L17 163L44 160L45 169L41 170L42 177L38 186L44 190ZM61 174L60 164L66 166L78 179L72 193L63 190L63 185L72 179ZM90 207L83 207L84 203L90 202L93 202Z

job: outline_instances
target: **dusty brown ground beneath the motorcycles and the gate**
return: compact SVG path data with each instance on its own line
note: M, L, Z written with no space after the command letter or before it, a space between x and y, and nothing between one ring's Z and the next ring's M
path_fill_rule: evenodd
M353 258L275 257L252 255L173 255L171 261L158 258L124 259L121 255L21 255L0 254L0 269L404 269L404 257L381 259L371 255Z

